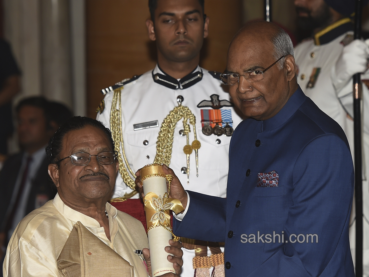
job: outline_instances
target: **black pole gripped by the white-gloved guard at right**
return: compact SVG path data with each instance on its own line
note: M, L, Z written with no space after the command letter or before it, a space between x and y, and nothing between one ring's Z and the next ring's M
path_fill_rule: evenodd
M361 39L362 0L356 0L354 38ZM360 73L354 75L354 153L355 153L355 274L363 276L363 186L361 149L361 93Z

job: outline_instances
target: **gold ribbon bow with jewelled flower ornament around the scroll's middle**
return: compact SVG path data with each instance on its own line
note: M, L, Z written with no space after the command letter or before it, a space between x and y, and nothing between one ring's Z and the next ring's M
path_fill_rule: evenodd
M173 234L172 226L170 226L169 210L175 214L184 211L181 202L178 199L169 198L168 193L163 197L149 192L144 198L147 231L155 227L163 227L173 235L173 240L179 240L179 237Z

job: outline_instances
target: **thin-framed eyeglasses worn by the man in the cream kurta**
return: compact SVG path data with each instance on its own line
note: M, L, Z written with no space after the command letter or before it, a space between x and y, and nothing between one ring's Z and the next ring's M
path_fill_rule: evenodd
M103 151L97 153L97 155L90 155L90 153L86 152L77 152L68 157L62 158L61 160L57 161L56 164L59 164L62 160L70 158L72 164L74 165L87 165L90 163L91 156L96 156L97 162L99 164L107 165L114 163L115 159L118 156L118 152Z

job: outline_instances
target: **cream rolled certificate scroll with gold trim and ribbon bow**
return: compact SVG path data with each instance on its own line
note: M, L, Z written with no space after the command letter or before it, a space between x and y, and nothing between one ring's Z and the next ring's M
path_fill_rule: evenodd
M170 226L169 210L176 214L183 211L179 200L169 198L166 184L172 181L172 175L165 175L161 164L149 164L141 168L141 184L144 187L147 233L149 237L152 276L161 276L173 272L173 264L167 259L165 246L169 240L178 240Z

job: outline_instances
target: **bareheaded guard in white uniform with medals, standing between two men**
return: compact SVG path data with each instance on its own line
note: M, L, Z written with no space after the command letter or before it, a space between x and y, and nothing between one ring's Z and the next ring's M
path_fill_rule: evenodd
M198 66L208 18L200 0L149 1L146 21L158 64L143 75L103 89L97 119L110 128L120 162L113 197L138 198L134 173L170 164L186 189L226 197L228 147L241 117L220 73ZM155 25L155 31L154 31ZM181 238L181 276L224 276L219 243ZM195 251L196 249L196 251Z

